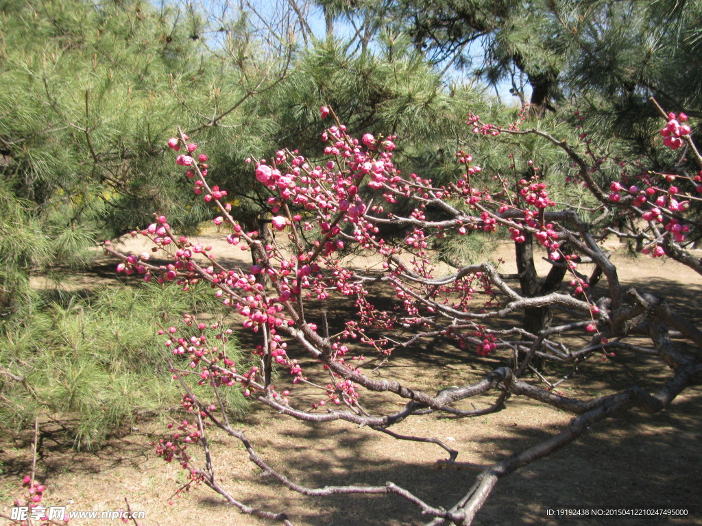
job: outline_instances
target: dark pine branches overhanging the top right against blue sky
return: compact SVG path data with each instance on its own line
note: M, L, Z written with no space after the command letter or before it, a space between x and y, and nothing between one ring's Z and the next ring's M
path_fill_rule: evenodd
M651 96L677 110L701 107L702 70L689 60L702 50L701 9L695 1L397 0L376 15L392 11L433 62L511 83L517 94L525 76L539 116L594 103L608 108L614 128L631 130L642 111L654 115Z

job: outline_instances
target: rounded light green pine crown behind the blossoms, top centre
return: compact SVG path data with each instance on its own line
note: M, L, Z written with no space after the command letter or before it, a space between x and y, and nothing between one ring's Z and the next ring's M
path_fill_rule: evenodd
M279 144L319 150L322 105L332 107L352 134L395 133L413 144L455 135L465 115L459 116L440 77L403 38L384 34L374 53L337 39L315 42L270 99L267 111L284 123L275 137ZM462 95L478 99L475 92ZM446 119L446 126L433 126L437 118Z

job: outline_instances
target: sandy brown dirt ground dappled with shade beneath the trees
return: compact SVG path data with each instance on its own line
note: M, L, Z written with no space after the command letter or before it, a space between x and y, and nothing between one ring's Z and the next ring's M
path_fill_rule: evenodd
M220 261L246 266L248 254L232 255L232 248L216 236L206 236ZM145 247L144 247L145 248ZM140 252L138 243L128 250ZM621 252L621 253L620 253ZM702 305L702 278L672 261L639 257L630 259L620 250L614 259L627 285L656 290L674 308L697 313ZM496 257L510 254L501 245ZM509 259L507 259L509 261ZM355 260L358 268L373 267L372 260ZM104 267L100 267L104 264ZM548 268L542 262L540 271ZM114 262L101 261L95 272L72 281L74 288L90 288L96 278L114 279ZM501 267L505 272L515 269ZM37 286L42 286L37 281ZM343 309L329 316L347 316ZM242 336L242 344L250 344ZM453 349L424 348L398 353L373 373L377 378L394 377L417 388L437 389L465 383L479 370L501 363L465 360ZM420 367L417 367L419 365ZM432 365L427 367L426 365ZM369 367L370 368L370 367ZM611 386L659 385L666 371L653 360L622 353L612 360L590 360L578 375L559 386L567 394L599 396ZM689 389L673 405L658 414L630 412L590 429L581 439L546 459L522 468L501 480L482 511L477 525L702 525L702 391ZM387 400L381 401L383 405ZM378 407L380 407L380 405ZM67 506L70 511L116 510L128 499L135 511L144 511L140 525L258 526L266 520L242 515L223 504L206 487L196 487L183 498L172 498L184 473L166 464L150 445L163 430L157 420L137 422L113 436L106 447L91 454L70 450L65 415L41 425L44 443L38 462L39 480L48 486L46 501ZM409 419L393 428L397 433L434 436L459 451L458 460L489 465L557 433L571 416L547 405L511 398L501 412L474 419L427 415ZM392 481L411 490L428 504L451 506L475 482L478 471L437 470L445 457L436 445L394 440L350 424L294 422L271 410L254 409L237 423L246 429L253 447L274 468L297 483L312 487L355 483L383 485ZM0 513L20 494L21 478L31 466L32 433L0 438ZM212 433L211 450L220 483L250 506L288 513L296 526L399 526L423 524L416 508L396 497L300 497L262 475L251 464L244 449L222 433ZM684 508L684 518L556 519L547 508ZM73 521L78 525L104 525L107 519Z

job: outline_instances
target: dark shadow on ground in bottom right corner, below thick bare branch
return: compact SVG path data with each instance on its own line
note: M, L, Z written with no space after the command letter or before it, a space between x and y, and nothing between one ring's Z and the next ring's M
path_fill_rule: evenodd
M702 393L693 389L662 412L625 412L598 422L575 443L498 483L476 524L502 524L501 513L515 501L522 509L518 524L702 524L701 409ZM517 440L543 440L547 431L501 438L498 444L517 450ZM546 508L687 509L689 515L565 520L548 518Z

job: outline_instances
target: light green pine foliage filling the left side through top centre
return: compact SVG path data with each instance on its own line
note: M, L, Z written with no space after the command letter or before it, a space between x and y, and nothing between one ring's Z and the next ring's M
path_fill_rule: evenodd
M154 330L186 300L146 286L48 302L29 273L88 264L96 241L142 228L157 211L183 233L211 218L164 155L178 127L213 160L235 217L256 227L267 196L246 157L279 144L318 149L322 104L354 133L397 133L407 166L430 172L437 151L453 159L465 109L479 100L445 90L406 37L390 33L372 53L316 42L282 79L244 15L215 48L199 38L197 13L144 1L13 0L0 16L0 425L72 414L78 447L176 403ZM241 394L227 391L240 411Z

